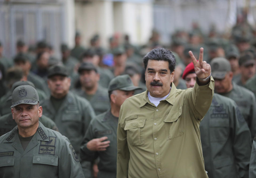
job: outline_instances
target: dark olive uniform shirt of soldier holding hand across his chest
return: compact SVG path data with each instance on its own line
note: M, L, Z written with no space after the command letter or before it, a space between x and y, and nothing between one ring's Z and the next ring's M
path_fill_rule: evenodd
M89 125L81 144L81 162L91 163L95 158L99 158L98 178L117 177L117 124L118 117L111 114L110 110L96 116ZM87 148L88 141L107 136L110 141L109 147L105 151L90 151ZM104 141L107 141L104 140ZM84 175L91 176L91 166L83 168Z

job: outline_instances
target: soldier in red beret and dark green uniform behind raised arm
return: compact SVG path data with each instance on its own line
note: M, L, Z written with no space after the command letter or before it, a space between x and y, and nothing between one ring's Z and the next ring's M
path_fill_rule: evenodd
M194 87L197 75L192 62L183 77L187 88ZM248 177L251 132L237 104L215 93L199 128L209 178Z

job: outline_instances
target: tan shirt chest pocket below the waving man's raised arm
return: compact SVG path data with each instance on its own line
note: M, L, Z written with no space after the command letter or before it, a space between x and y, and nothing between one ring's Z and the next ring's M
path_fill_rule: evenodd
M164 120L166 140L182 136L185 133L185 120L181 119L182 109L170 111Z

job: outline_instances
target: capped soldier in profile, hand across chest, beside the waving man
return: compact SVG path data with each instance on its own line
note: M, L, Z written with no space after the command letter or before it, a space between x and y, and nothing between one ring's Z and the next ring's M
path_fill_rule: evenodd
M89 125L81 144L81 162L92 162L99 157L98 178L117 177L117 123L120 107L133 96L135 87L128 75L119 75L109 83L110 110L96 116ZM91 177L90 167L83 169Z

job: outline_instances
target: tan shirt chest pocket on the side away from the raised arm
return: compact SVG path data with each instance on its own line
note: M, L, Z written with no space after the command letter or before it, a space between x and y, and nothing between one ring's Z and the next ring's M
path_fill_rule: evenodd
M143 135L143 127L146 119L137 119L137 116L133 116L126 119L124 130L127 131L127 141L132 146L142 146L145 143L145 137Z

